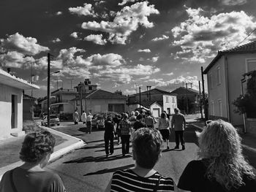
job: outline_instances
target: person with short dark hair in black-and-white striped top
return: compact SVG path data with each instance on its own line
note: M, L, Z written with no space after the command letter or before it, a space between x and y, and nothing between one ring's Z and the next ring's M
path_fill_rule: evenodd
M177 191L171 177L155 171L161 156L162 136L156 129L139 128L132 139L135 167L118 170L105 191Z

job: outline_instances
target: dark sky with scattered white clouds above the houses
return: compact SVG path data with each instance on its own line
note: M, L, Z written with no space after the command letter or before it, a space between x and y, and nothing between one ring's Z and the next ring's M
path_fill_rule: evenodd
M47 95L48 53L50 91L85 79L126 95L198 90L218 50L256 39L255 9L255 0L1 0L0 68L33 74L35 97Z

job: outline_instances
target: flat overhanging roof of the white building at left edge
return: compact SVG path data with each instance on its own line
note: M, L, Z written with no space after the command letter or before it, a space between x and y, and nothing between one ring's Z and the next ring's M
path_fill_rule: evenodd
M0 83L23 90L39 89L39 86L34 85L31 82L27 82L26 80L23 80L20 77L16 77L14 74L4 72L4 70L2 69L0 69Z

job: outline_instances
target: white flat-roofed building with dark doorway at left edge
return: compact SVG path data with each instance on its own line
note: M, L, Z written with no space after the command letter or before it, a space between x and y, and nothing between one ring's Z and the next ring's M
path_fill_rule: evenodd
M39 89L37 85L0 69L0 138L23 132L23 90Z

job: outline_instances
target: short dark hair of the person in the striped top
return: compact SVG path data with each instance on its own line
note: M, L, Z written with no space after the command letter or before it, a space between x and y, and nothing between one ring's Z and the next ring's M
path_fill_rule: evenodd
M162 146L162 135L156 129L139 128L132 139L132 149L136 156L136 163L152 169L159 159Z

